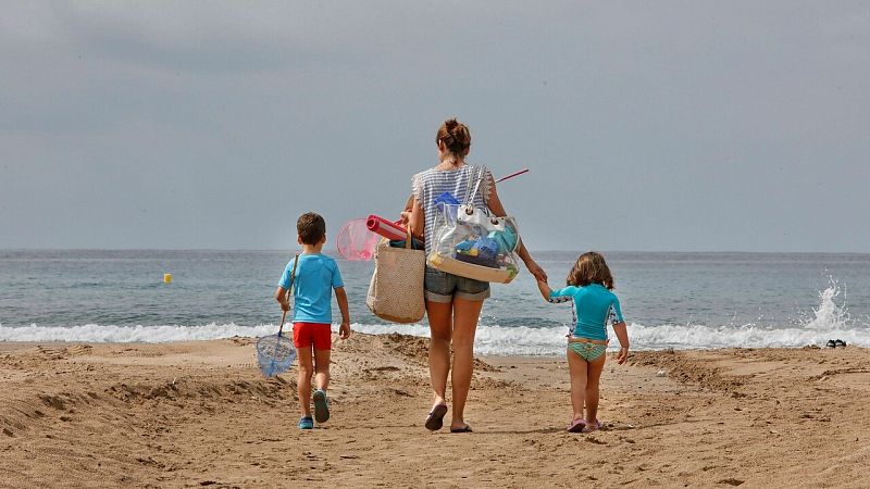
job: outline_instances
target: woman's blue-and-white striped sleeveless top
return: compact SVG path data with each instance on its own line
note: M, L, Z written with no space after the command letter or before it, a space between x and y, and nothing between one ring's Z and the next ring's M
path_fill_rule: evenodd
M483 172L480 172L480 168L483 168ZM474 190L474 185L481 175L483 175L483 181L477 189L477 193L474 195L474 206L486 208L486 201L494 185L493 173L486 166L465 164L457 170L428 168L411 178L411 189L414 198L423 208L423 215L426 218L423 235L426 240L426 254L432 251L435 214L438 212L434 202L435 199L444 192L450 192L460 203L465 203L469 180L471 180L471 190Z

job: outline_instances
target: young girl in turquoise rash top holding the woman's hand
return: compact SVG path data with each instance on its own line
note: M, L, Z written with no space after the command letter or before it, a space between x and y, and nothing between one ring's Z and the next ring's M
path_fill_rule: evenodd
M568 367L571 372L571 404L574 416L568 430L591 432L601 428L595 417L598 414L598 379L605 367L607 355L607 324L613 325L619 338L617 363L625 363L629 358L629 333L622 319L619 299L613 289L605 258L589 251L583 253L568 274L568 287L551 290L546 281L538 280L540 294L549 302L573 300L574 324L568 336ZM586 405L586 417L583 405Z

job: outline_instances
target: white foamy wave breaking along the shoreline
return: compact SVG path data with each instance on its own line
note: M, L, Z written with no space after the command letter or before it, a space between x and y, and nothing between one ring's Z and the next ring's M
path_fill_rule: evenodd
M428 337L428 327L413 325L353 324L352 329L366 334L399 333ZM211 340L221 338L257 338L275 333L277 325L239 326L235 324L209 324L202 326L111 326L86 324L79 326L2 326L0 341L69 341L69 342L148 342ZM333 326L337 330L337 325ZM558 355L564 353L567 329L564 327L502 327L480 326L475 339L475 352L482 355ZM870 348L870 328L846 326L821 328L785 327L770 328L756 325L705 326L705 325L629 325L629 337L634 350L662 350L673 348L799 348L807 344L823 346L829 339L840 338L848 344ZM611 338L610 349L618 348Z

